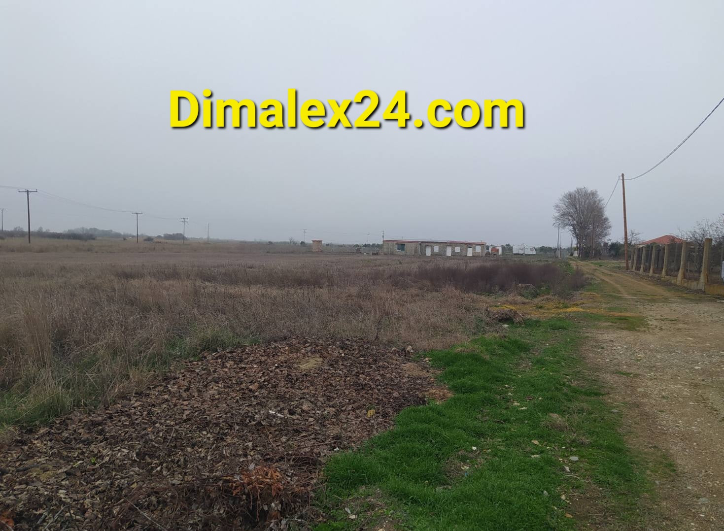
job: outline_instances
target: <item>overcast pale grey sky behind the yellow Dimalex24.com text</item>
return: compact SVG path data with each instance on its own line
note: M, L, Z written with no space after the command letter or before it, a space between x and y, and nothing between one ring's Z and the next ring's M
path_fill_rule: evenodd
M724 96L724 2L29 1L0 8L0 184L144 211L147 234L392 237L555 245L552 204L665 156ZM171 129L201 99L380 108L518 98L525 129ZM350 113L357 116L361 106ZM675 233L724 211L724 109L628 184L628 226ZM31 197L33 228L135 230L130 213ZM25 196L0 188L5 226ZM608 215L623 237L620 190ZM566 237L567 238L567 237Z

